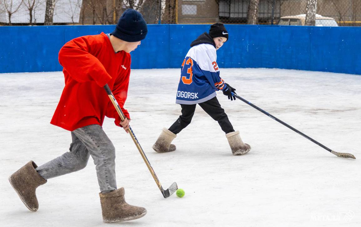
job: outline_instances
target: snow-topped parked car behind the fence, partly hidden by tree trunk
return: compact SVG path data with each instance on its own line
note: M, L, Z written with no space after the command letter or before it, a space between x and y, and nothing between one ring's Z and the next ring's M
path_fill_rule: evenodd
M306 14L283 16L279 18L278 25L304 26L305 20ZM323 17L322 15L316 14L316 26L337 27L338 24L332 17Z

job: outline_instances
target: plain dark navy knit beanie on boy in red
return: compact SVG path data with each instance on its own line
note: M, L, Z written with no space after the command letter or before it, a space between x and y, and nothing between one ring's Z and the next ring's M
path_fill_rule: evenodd
M112 35L127 42L138 42L145 38L147 32L147 23L142 14L134 9L127 9L119 18Z

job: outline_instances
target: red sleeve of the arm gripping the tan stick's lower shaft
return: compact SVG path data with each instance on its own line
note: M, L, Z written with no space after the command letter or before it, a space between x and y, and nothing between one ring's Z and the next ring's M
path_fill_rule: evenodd
M127 71L124 72L124 75L119 75L118 79L115 81L112 93L114 97L117 99L117 102L119 104L119 107L121 108L122 112L124 113L124 116L127 119L130 119L129 112L124 108L124 103L127 99L128 95L128 87L129 87L129 77L130 77L130 64L127 67ZM114 123L117 126L120 126L121 118L116 110L114 108L114 105L112 102L109 102L108 107L106 108L105 116L114 118Z

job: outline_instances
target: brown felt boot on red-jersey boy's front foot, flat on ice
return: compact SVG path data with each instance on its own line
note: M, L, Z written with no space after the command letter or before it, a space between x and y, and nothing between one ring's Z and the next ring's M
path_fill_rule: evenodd
M127 204L124 188L108 193L99 193L103 222L123 222L143 217L147 210L143 207Z

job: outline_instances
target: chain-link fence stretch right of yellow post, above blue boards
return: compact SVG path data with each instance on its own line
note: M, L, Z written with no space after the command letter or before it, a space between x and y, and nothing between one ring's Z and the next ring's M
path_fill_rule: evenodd
M178 23L249 23L305 25L307 0L178 0ZM361 26L361 0L313 0L316 26Z

